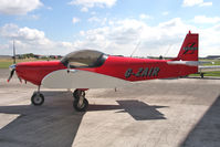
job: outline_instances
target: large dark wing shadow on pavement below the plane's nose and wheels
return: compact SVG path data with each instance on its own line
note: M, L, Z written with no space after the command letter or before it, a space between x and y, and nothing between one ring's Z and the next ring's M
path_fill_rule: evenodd
M50 95L56 95L54 98ZM0 129L0 147L71 147L85 113L74 112L66 92L43 92L42 106L0 106L2 114L20 116ZM49 96L49 97L48 97ZM57 97L57 98L56 98Z

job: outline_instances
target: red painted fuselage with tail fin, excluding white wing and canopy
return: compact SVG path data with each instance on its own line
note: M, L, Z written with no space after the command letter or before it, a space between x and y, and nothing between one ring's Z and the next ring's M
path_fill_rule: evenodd
M125 81L144 81L185 76L198 72L198 66L186 64L168 64L172 61L198 61L198 34L187 34L178 56L174 60L135 59L108 55L105 62L96 67L74 67ZM42 80L57 70L67 70L61 61L42 61L18 63L15 72L19 77L41 85Z

